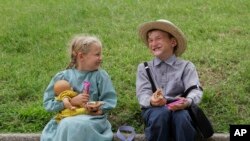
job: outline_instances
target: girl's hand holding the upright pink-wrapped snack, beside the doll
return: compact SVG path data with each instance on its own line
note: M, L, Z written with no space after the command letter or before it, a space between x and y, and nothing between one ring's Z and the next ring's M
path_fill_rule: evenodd
M86 105L88 101L89 101L89 94L86 93L78 94L77 96L71 98L70 100L72 105L79 107L83 107L84 105Z

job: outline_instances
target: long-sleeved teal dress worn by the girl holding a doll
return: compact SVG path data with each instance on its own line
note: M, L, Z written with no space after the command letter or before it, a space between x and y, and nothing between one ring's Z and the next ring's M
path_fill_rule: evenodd
M43 104L49 112L59 112L64 109L61 101L55 100L53 91L57 80L67 80L73 90L82 93L83 82L88 81L90 86L90 101L103 101L101 109L103 115L77 115L62 119L59 123L52 118L41 134L41 141L112 141L113 132L111 124L107 120L107 111L115 108L117 103L116 92L111 79L103 69L85 72L76 69L67 69L57 73L49 83L45 93Z

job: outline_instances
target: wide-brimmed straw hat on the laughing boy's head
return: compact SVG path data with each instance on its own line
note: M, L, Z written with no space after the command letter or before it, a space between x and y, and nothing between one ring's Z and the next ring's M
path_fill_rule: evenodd
M157 20L154 22L147 22L139 27L139 36L142 41L148 45L147 33L152 29L159 29L172 34L177 40L177 49L175 50L175 55L180 56L187 47L187 41L183 32L175 26L172 22L168 20Z

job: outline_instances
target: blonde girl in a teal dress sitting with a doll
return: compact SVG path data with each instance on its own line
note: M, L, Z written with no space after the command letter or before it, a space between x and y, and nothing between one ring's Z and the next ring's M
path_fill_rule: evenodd
M113 133L106 112L115 108L116 92L107 72L100 68L102 44L94 36L76 36L70 44L71 61L66 70L57 73L44 93L43 104L49 112L60 112L62 101L55 100L53 87L58 80L67 80L78 93L71 98L73 106L87 105L88 115L63 118L59 123L52 118L42 131L41 141L111 141ZM89 94L84 92L83 82L91 83ZM88 101L104 104L88 106Z

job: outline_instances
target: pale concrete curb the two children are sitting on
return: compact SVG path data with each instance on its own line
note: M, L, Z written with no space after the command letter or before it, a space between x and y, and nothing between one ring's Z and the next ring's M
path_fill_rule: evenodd
M40 141L39 133L0 133L0 141ZM114 134L114 141L120 141ZM146 141L144 134L137 134L134 141ZM229 141L229 134L215 133L204 141Z

